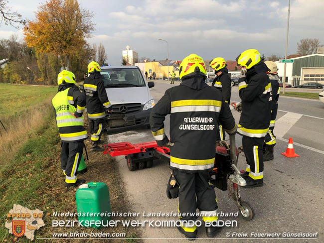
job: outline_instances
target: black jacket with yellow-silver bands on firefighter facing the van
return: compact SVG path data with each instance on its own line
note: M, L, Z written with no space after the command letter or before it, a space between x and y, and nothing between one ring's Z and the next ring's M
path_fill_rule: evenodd
M84 80L83 89L86 95L86 107L89 119L105 118L105 109L109 109L111 104L108 100L100 72L91 73Z

